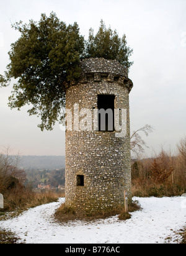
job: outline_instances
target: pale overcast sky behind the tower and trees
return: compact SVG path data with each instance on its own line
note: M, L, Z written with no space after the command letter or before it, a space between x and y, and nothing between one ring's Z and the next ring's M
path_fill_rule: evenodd
M66 24L78 22L87 39L89 29L99 29L100 20L126 34L134 53L130 79L131 132L150 124L154 132L144 138L153 150L175 150L186 135L186 1L185 0L6 0L0 9L0 73L9 63L7 52L19 39L11 23L40 20L56 12ZM40 119L7 106L11 86L0 88L0 152L10 146L22 155L64 155L64 132L56 124L52 132L41 132Z

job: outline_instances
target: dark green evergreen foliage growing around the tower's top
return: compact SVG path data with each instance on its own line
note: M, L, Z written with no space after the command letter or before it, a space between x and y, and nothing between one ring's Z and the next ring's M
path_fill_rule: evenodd
M62 121L66 83L78 81L83 58L118 60L126 68L133 64L129 62L133 50L127 47L126 36L120 39L103 21L95 36L93 29L89 30L88 40L80 35L76 22L66 25L53 12L49 17L42 14L39 22L20 21L12 27L19 30L20 38L11 45L11 62L0 75L0 86L8 86L15 79L9 106L20 110L32 105L28 112L41 117L38 127L42 130L52 130L56 121Z

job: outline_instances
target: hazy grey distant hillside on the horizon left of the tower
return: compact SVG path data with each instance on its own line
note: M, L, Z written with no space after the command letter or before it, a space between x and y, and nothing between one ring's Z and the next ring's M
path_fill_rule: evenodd
M19 167L24 170L56 170L65 168L64 156L23 155Z

